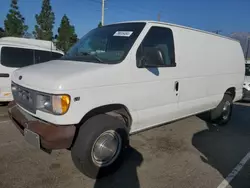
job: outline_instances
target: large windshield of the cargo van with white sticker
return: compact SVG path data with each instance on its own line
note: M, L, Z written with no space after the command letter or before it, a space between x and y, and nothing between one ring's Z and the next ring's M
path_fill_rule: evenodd
M121 23L91 30L61 59L92 63L121 62L133 46L145 23Z

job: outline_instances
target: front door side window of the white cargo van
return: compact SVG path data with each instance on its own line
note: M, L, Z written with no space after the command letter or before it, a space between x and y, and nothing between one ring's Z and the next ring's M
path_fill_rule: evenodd
M151 27L137 50L137 66L142 59L146 59L150 67L176 66L172 30L164 27Z

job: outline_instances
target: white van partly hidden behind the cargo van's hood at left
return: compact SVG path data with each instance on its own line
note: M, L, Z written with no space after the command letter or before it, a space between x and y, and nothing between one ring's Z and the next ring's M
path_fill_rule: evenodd
M63 52L50 41L17 37L0 38L0 103L13 100L11 73L17 68L58 59Z

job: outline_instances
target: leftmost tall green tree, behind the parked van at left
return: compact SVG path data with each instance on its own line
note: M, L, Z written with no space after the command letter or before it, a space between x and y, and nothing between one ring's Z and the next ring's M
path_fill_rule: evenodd
M5 35L13 37L22 37L28 30L28 26L25 25L25 19L21 15L18 8L18 0L12 0L9 13L4 20Z

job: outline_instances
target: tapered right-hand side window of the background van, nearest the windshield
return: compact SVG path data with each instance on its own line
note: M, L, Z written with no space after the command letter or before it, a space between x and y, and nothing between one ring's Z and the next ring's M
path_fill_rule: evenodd
M35 63L44 63L50 60L59 59L62 55L50 51L35 50Z

